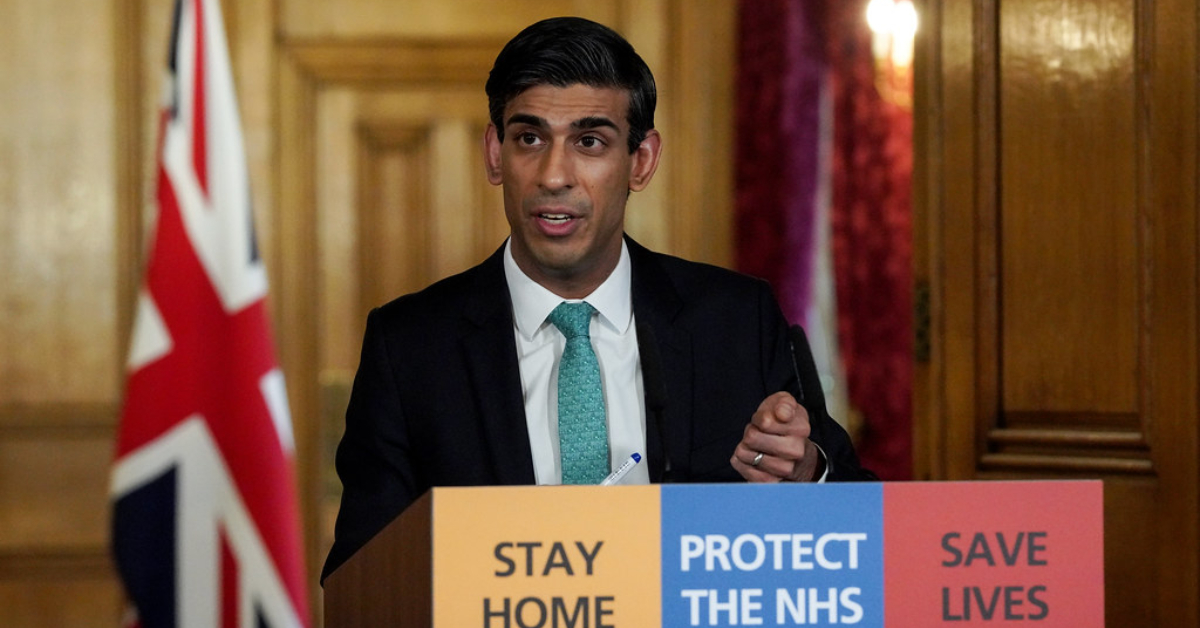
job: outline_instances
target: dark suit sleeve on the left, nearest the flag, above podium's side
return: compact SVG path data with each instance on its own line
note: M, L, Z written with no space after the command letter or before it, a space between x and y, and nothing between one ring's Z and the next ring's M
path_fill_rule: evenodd
M337 445L342 503L322 581L420 496L394 357L380 319L379 310L367 316L346 432Z

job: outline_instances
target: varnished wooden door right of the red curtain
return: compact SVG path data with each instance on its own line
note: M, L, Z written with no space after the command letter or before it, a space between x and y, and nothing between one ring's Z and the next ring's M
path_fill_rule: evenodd
M917 477L1102 478L1108 626L1198 626L1198 8L919 7Z

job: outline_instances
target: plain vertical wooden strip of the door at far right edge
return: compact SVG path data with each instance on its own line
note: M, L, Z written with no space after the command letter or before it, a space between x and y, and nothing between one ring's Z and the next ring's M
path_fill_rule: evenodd
M1200 6L1138 2L1142 412L1159 626L1200 626Z

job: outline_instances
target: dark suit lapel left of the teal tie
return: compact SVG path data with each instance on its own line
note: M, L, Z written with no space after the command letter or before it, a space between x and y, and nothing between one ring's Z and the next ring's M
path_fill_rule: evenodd
M474 289L463 310L470 324L461 347L496 483L534 484L503 251L502 246L479 267Z

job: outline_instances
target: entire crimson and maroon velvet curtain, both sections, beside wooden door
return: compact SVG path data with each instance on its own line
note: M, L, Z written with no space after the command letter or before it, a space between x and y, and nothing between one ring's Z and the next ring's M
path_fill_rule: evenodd
M912 115L875 88L865 12L866 0L740 2L737 263L798 322L822 185L805 157L821 154L811 85L827 72L838 343L859 456L900 480L912 477Z

